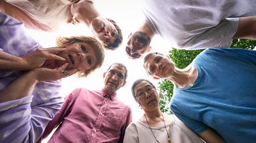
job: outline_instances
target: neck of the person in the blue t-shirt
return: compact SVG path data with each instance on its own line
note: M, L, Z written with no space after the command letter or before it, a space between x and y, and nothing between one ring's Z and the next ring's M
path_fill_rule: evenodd
M173 74L167 79L172 81L175 87L188 87L189 84L193 83L195 80L194 70L195 68L192 64L189 64L189 66L182 70L175 68Z

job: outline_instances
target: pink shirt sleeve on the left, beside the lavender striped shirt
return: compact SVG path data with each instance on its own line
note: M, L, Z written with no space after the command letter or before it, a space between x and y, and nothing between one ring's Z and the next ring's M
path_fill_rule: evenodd
M43 139L45 139L52 132L52 130L59 126L62 123L63 119L68 116L68 114L72 110L74 103L76 102L76 96L74 95L75 92L76 91L73 91L72 93L68 94L68 96L65 98L63 106L58 111L56 116L54 116L52 121L50 121L47 124L45 131L42 137L38 140L38 142L41 142Z

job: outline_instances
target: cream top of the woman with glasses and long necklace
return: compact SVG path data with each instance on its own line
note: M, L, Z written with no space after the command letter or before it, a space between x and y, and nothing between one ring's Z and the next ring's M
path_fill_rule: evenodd
M170 116L171 123L166 124L168 135L172 142L184 143L184 142L196 142L204 143L202 139L195 132L190 130L188 126L183 124L177 117ZM159 142L167 142L168 135L164 126L151 127L156 139ZM129 124L125 130L124 143L155 143L154 138L148 124L144 124L141 121L135 121Z

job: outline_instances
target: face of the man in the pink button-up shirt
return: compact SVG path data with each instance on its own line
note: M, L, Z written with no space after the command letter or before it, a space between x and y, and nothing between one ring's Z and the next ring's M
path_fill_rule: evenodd
M104 73L104 84L108 93L115 93L120 87L125 85L124 81L125 68L123 66L113 64L107 73Z

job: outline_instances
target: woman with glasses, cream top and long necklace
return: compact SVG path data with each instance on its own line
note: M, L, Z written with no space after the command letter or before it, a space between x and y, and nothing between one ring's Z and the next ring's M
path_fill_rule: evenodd
M124 142L203 142L177 117L161 112L159 95L150 81L136 80L132 95L144 114L126 128Z

